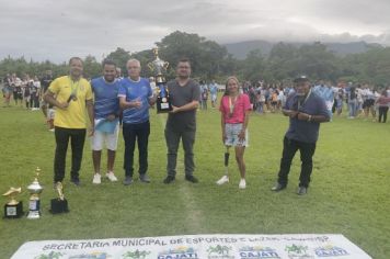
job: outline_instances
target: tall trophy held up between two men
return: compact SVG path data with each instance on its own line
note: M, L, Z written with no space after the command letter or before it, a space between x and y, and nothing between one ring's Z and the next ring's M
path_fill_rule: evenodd
M154 74L156 87L157 87L157 113L172 111L172 104L170 93L167 87L167 81L163 71L167 71L169 66L168 61L163 61L159 58L159 49L154 48L154 60L148 64L149 69Z

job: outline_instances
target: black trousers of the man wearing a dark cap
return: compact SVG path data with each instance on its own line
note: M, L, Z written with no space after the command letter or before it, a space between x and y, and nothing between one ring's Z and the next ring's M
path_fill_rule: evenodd
M291 161L295 154L299 149L300 160L302 162L300 168L299 187L308 188L310 182L310 174L313 169L312 157L316 151L316 143L303 143L285 137L283 144L283 156L280 159L278 182L282 185L287 185Z

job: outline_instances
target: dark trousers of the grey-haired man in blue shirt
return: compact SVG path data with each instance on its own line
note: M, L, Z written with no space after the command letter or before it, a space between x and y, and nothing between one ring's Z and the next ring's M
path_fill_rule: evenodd
M138 143L139 174L148 171L148 142L150 134L149 121L139 124L123 124L123 138L125 140L124 169L126 177L133 177L134 149Z

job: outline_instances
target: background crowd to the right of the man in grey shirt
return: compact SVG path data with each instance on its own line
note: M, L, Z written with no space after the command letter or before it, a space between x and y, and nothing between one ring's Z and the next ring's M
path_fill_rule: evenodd
M325 100L331 115L340 116L344 113L348 119L371 117L372 121L382 123L387 121L390 105L389 88L344 81L334 85L321 80L313 82L312 87L313 91ZM209 95L211 95L211 106L216 108L218 89L215 81L209 85L200 81L200 110L207 110ZM294 92L294 86L292 83L265 83L263 81L243 82L240 85L240 91L249 95L253 112L275 113L282 111L287 97Z

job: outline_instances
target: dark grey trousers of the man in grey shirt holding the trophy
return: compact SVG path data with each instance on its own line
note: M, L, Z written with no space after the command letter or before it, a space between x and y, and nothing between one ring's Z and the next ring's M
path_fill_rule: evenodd
M165 127L165 142L168 148L168 176L174 177L176 174L176 160L180 139L182 138L184 149L184 167L185 174L192 176L195 169L193 147L195 143L196 131L181 131L175 132L169 126Z

